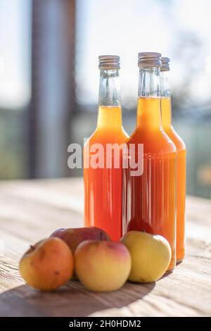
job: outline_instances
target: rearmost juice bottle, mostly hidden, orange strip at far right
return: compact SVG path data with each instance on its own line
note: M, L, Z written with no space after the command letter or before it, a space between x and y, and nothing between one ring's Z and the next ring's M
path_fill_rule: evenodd
M186 146L172 126L171 94L169 84L170 58L161 58L160 72L162 127L177 148L177 263L185 251Z

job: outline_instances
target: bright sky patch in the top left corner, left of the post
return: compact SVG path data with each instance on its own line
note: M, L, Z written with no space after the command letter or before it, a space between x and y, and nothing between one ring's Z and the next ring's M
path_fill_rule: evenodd
M0 2L1 108L19 108L30 99L30 4Z

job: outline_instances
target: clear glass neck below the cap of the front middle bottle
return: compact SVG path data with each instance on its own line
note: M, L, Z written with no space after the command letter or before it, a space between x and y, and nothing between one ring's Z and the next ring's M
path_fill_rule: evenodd
M139 70L139 100L137 127L142 130L160 130L160 68Z

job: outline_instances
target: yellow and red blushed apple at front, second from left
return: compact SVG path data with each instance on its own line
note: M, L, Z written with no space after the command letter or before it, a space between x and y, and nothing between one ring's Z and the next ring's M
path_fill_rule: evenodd
M128 249L120 242L87 240L75 251L75 271L87 289L110 292L127 281L131 269Z

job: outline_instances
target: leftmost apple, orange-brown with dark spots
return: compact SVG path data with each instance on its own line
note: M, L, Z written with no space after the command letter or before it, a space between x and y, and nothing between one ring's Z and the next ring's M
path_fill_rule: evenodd
M48 238L30 246L19 263L20 275L35 289L51 291L72 277L74 258L60 238Z

